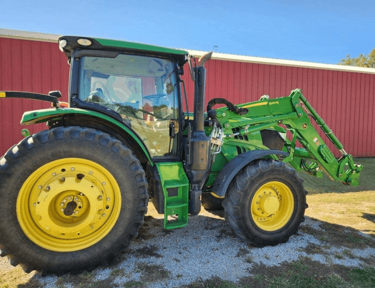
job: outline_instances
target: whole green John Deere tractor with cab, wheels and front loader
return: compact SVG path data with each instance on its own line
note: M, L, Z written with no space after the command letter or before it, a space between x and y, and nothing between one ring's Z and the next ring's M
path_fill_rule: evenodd
M306 191L295 170L358 185L362 167L298 89L239 105L215 98L205 110L211 54L195 62L150 45L71 36L58 43L70 64L67 107L58 91L0 92L53 106L25 112L21 124L48 129L22 130L25 138L0 158L1 256L25 272L105 265L137 236L149 198L165 229L187 225L202 204L223 208L234 233L261 246L287 241L304 220ZM182 111L186 62L191 114Z

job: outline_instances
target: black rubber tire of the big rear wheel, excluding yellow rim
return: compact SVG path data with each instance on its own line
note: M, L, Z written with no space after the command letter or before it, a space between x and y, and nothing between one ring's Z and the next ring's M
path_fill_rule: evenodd
M99 242L74 252L56 252L29 240L18 224L15 206L20 187L33 171L68 157L88 159L107 169L120 187L121 208L113 228ZM13 146L4 158L7 167L0 167L0 193L5 199L0 206L0 247L13 264L20 262L26 271L42 273L90 270L119 255L137 235L147 211L145 173L131 151L108 134L79 127L45 130Z

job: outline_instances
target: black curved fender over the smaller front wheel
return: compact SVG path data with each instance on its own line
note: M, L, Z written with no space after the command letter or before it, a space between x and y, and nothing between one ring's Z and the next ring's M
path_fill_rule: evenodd
M223 197L230 181L239 172L239 170L241 170L251 161L268 155L288 156L289 153L278 150L253 150L239 154L237 157L226 163L218 173L216 180L213 183L212 192L219 197Z

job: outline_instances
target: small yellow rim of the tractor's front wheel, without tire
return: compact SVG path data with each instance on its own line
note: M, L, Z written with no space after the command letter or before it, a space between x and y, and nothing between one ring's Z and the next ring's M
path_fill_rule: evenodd
M267 182L254 194L251 201L251 217L262 230L281 229L289 221L294 209L294 197L290 188L278 181Z

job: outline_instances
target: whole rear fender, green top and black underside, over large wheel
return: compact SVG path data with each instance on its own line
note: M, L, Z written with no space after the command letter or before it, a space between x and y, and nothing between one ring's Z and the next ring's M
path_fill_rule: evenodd
M141 160L140 158L143 158L143 160L148 161L153 165L150 154L141 139L139 139L131 128L127 127L118 119L114 119L95 111L79 108L59 108L25 112L22 115L21 124L29 125L47 121L49 122L48 124L50 127L84 126L108 133L109 135L118 138L118 140L122 140L125 144L130 144L131 147L129 148L137 154L139 160ZM139 157L139 153L136 153L137 147L140 148L142 157Z

